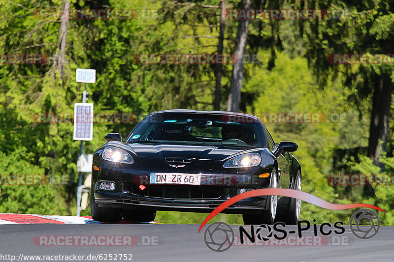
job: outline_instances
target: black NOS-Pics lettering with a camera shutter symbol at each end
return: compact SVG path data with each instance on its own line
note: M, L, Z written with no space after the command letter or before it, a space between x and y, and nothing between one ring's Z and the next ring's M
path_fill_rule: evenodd
M369 226L361 226L361 220L369 220ZM315 221L315 220L314 220ZM304 223L305 225L302 225ZM369 239L374 237L380 229L380 219L376 212L370 209L360 209L352 214L350 217L350 230L351 232L361 239ZM343 234L345 233L344 223L337 221L333 227L329 223L323 223L319 227L319 231L322 235L329 235L331 233ZM273 227L273 228L272 228ZM255 227L250 226L248 233L243 226L239 227L239 234L241 243L243 243L243 237L246 236L250 241L255 242L256 238L261 241L268 241L272 237L275 239L284 239L288 234L298 233L298 237L302 237L302 231L309 230L311 223L307 220L300 220L297 222L296 231L286 231L286 225L282 222L275 223L273 226L260 225ZM314 234L317 236L318 230L316 225L313 225ZM265 233L264 233L265 232ZM223 252L228 250L234 243L235 234L234 230L224 222L215 222L210 224L204 233L204 241L206 246L215 251Z

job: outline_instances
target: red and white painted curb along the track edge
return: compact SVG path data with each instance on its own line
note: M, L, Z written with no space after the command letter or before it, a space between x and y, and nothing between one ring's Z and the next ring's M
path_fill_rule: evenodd
M152 221L148 224L156 223L159 222ZM0 225L7 224L103 224L103 222L93 220L91 216L57 216L0 213ZM127 220L122 220L118 224L134 223Z

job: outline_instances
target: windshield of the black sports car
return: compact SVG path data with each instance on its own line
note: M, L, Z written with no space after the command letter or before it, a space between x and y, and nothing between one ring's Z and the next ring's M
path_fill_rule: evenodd
M265 141L262 124L252 117L167 113L145 118L132 131L128 143L264 147Z

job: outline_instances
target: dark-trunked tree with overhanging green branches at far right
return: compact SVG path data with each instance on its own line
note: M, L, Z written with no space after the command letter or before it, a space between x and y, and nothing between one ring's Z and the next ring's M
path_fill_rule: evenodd
M361 101L369 100L370 127L368 156L375 165L384 170L379 157L387 148L390 108L392 104L393 68L384 64L329 65L330 54L389 54L394 46L393 28L394 7L389 1L378 5L368 1L294 2L296 8L347 10L339 19L328 16L327 19L299 22L299 29L307 38L309 64L319 79L321 87L329 79L342 81L355 92L349 95L349 101L361 109ZM361 114L361 111L360 111ZM364 193L373 194L372 187L365 186Z

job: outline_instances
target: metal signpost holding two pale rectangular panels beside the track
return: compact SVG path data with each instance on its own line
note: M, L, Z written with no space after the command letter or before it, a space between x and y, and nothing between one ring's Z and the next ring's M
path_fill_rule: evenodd
M86 103L86 83L96 83L96 70L77 68L75 72L75 81L85 83L85 88L82 93L82 103L74 104L74 140L81 140L81 147L79 150L81 158L83 154L83 141L93 139L93 104ZM83 160L79 161L79 163L83 162ZM77 169L80 171L77 189L77 216L79 216L82 194L82 172L87 170L86 164L84 167L78 167L77 164Z

